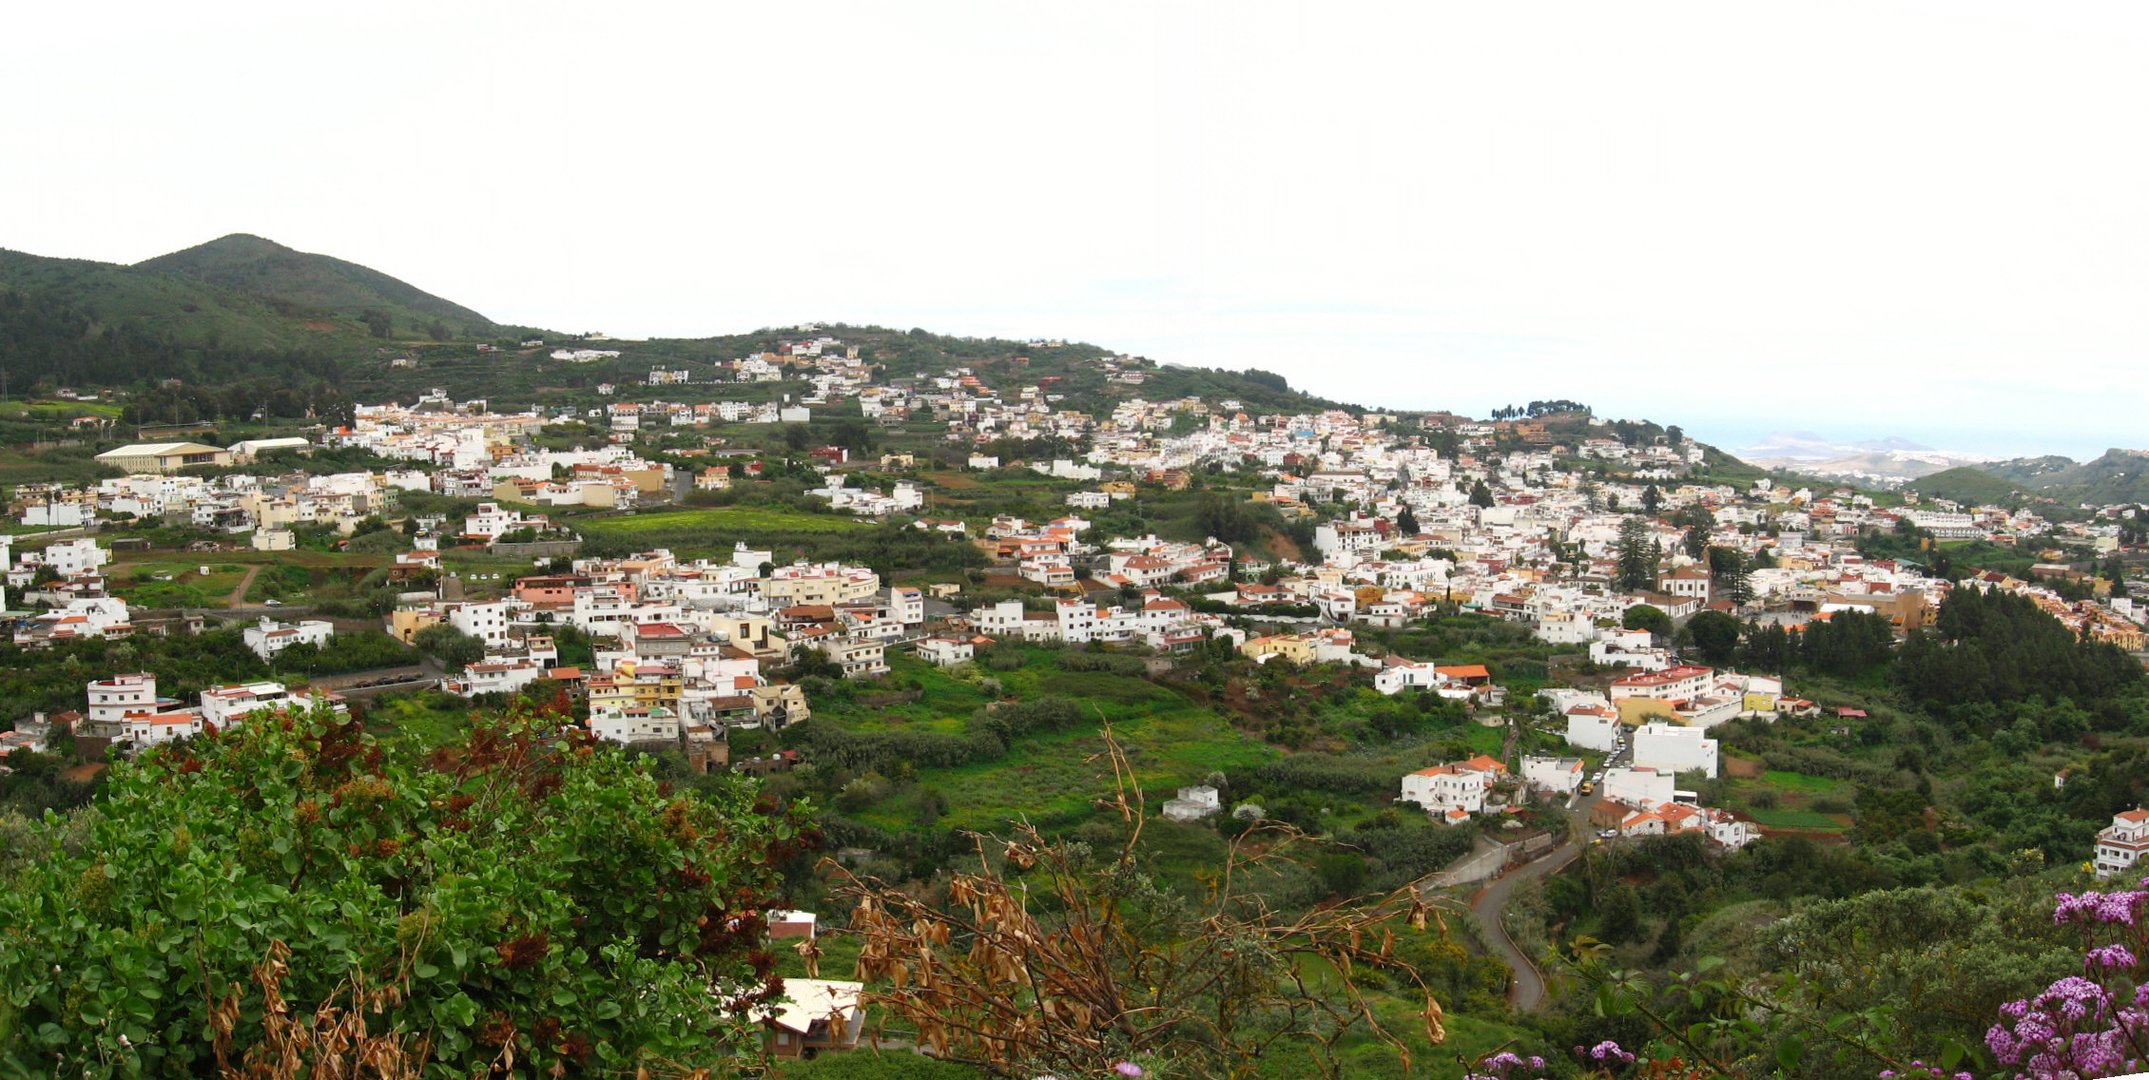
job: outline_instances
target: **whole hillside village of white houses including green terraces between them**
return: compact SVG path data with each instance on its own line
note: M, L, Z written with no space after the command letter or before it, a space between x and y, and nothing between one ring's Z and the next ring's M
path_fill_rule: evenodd
M632 363L621 350L550 359ZM1932 629L1951 593L1977 590L2020 597L2080 640L2145 648L2149 610L2119 569L2140 550L2138 507L2050 520L1814 487L1580 408L1261 412L1234 397L1152 402L1158 369L1133 356L1062 367L1074 376L894 374L812 333L600 382L574 404L494 410L428 389L297 434L101 451L112 475L9 492L9 640L39 651L221 627L260 663L189 681L187 700L157 670L86 670L67 709L15 717L0 749L95 769L279 711L563 702L591 736L690 775L819 769L849 805L898 769L860 771L823 756L838 754L827 736L793 734L855 724L857 702L911 700L905 687L933 678L997 685L993 672L1036 657L1068 670L1074 653L1126 655L1141 678L1221 678L1227 700L1281 678L1390 702L1352 709L1457 717L1440 743L1457 754L1393 767L1362 812L1474 837L1442 848L1442 880L1466 885L1560 859L1562 837L1691 835L1739 852L1809 835L1784 824L1799 814L1721 801L1754 773L1732 773L1749 760L1719 732L1790 717L1848 734L1865 711L1833 683L1833 704L1801 694L1782 659L1756 666L1764 633L1880 627L1887 648ZM1057 386L1077 378L1115 397L1072 408ZM765 384L782 393L726 397ZM778 485L782 505L756 502ZM973 494L997 490L1021 496ZM754 513L776 532L713 524ZM673 520L711 526L634 543L640 522ZM814 530L900 537L931 556L823 556ZM1949 575L1936 565L1949 550L1999 552L2007 569ZM174 569L129 569L144 560ZM355 567L365 603L303 586L256 597L256 575L284 573L282 560ZM228 599L178 593L228 578ZM1429 627L1455 621L1504 627L1502 655L1526 657L1427 646ZM1231 739L1277 754L1251 730ZM1223 773L1158 782L1171 822L1266 814ZM2138 814L2074 855L2100 876L2130 870L2149 850ZM851 994L855 1041L857 983L827 986Z

